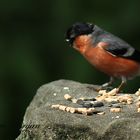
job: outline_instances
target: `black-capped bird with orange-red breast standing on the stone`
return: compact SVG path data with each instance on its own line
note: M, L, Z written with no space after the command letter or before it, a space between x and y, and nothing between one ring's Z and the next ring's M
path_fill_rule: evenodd
M127 80L140 75L140 51L95 24L74 23L65 39L91 65L110 76L98 90L111 86L117 78L121 79L117 87L120 92Z

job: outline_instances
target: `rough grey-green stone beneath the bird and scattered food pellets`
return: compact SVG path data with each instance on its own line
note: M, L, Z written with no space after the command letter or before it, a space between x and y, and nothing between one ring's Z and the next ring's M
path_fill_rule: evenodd
M140 113L136 106L124 105L123 112L111 113L105 105L98 108L105 115L71 114L52 109L52 104L78 107L64 99L95 97L92 85L58 80L43 85L26 110L17 140L140 140Z

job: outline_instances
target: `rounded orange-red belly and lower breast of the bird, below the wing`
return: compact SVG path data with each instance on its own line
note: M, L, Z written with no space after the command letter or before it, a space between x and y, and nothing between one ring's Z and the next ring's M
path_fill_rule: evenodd
M140 69L139 63L113 56L101 47L89 47L83 55L97 69L114 77L131 77Z

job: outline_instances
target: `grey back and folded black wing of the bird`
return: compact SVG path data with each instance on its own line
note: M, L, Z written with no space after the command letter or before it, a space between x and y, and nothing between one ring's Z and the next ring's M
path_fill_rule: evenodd
M108 43L108 47L105 47L105 50L109 53L140 62L140 51L136 50L119 37L101 29L97 25L95 25L94 28L95 31L92 33L93 44L96 45L99 42L106 42Z

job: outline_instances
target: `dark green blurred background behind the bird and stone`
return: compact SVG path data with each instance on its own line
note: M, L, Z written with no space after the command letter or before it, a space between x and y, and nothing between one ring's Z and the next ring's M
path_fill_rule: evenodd
M108 80L64 40L77 21L92 22L139 50L138 0L4 0L0 2L0 139L14 139L36 90L57 79ZM139 78L126 91L139 88Z

